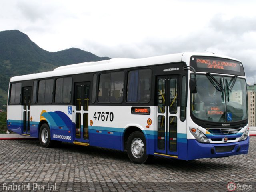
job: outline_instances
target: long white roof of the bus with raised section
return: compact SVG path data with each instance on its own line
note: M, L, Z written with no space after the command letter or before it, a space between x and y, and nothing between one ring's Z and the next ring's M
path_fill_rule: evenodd
M195 53L195 52L176 53L176 54L168 54L163 56L154 56L154 57L138 58L138 59L113 58L110 60L85 62L85 63L61 66L54 69L53 71L48 71L48 72L15 76L10 79L10 82L32 80L32 79L38 79L38 78L48 78L48 77L54 77L54 76L81 74L81 73L88 73L88 72L98 72L98 71L114 70L114 69L122 69L122 68L132 68L132 67L139 67L139 66L151 66L151 65L165 64L165 63L171 63L171 62L184 61L189 63L190 57L192 55L214 56L214 57L237 60L237 59L230 58L223 55L217 55L217 54L211 54L211 53Z

